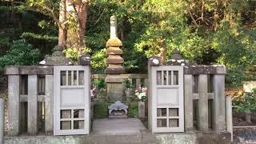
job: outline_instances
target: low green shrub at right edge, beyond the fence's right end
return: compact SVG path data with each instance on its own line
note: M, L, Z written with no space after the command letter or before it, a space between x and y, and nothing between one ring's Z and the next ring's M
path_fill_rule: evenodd
M252 93L238 95L233 100L235 110L241 113L250 113L256 110L256 89Z

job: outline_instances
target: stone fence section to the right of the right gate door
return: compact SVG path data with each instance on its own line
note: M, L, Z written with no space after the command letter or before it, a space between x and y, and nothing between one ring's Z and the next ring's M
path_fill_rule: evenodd
M225 95L225 74L225 66L184 67L186 131L232 133L231 100Z

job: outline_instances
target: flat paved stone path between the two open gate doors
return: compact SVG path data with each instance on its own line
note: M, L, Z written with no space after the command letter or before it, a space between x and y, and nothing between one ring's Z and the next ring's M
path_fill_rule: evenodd
M93 122L92 134L141 134L146 130L138 118L96 119Z

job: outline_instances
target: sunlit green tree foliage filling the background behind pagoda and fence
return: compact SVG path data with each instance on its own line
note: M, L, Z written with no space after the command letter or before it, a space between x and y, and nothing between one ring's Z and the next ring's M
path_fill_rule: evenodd
M0 22L0 56L20 38L38 48L41 58L51 54L58 44L59 2L1 2L0 18L6 21ZM90 0L88 6L84 42L86 52L92 55L94 73L103 73L106 68L111 15L118 18L118 38L123 42L127 72L146 73L148 57L169 59L174 48L198 64L225 65L226 82L232 86L241 85L245 72L255 70L253 0ZM77 53L66 52L70 57Z

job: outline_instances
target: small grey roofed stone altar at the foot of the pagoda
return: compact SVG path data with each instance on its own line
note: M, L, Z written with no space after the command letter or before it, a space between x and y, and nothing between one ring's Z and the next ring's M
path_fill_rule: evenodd
M127 118L128 106L120 101L114 102L112 105L108 106L109 118Z

